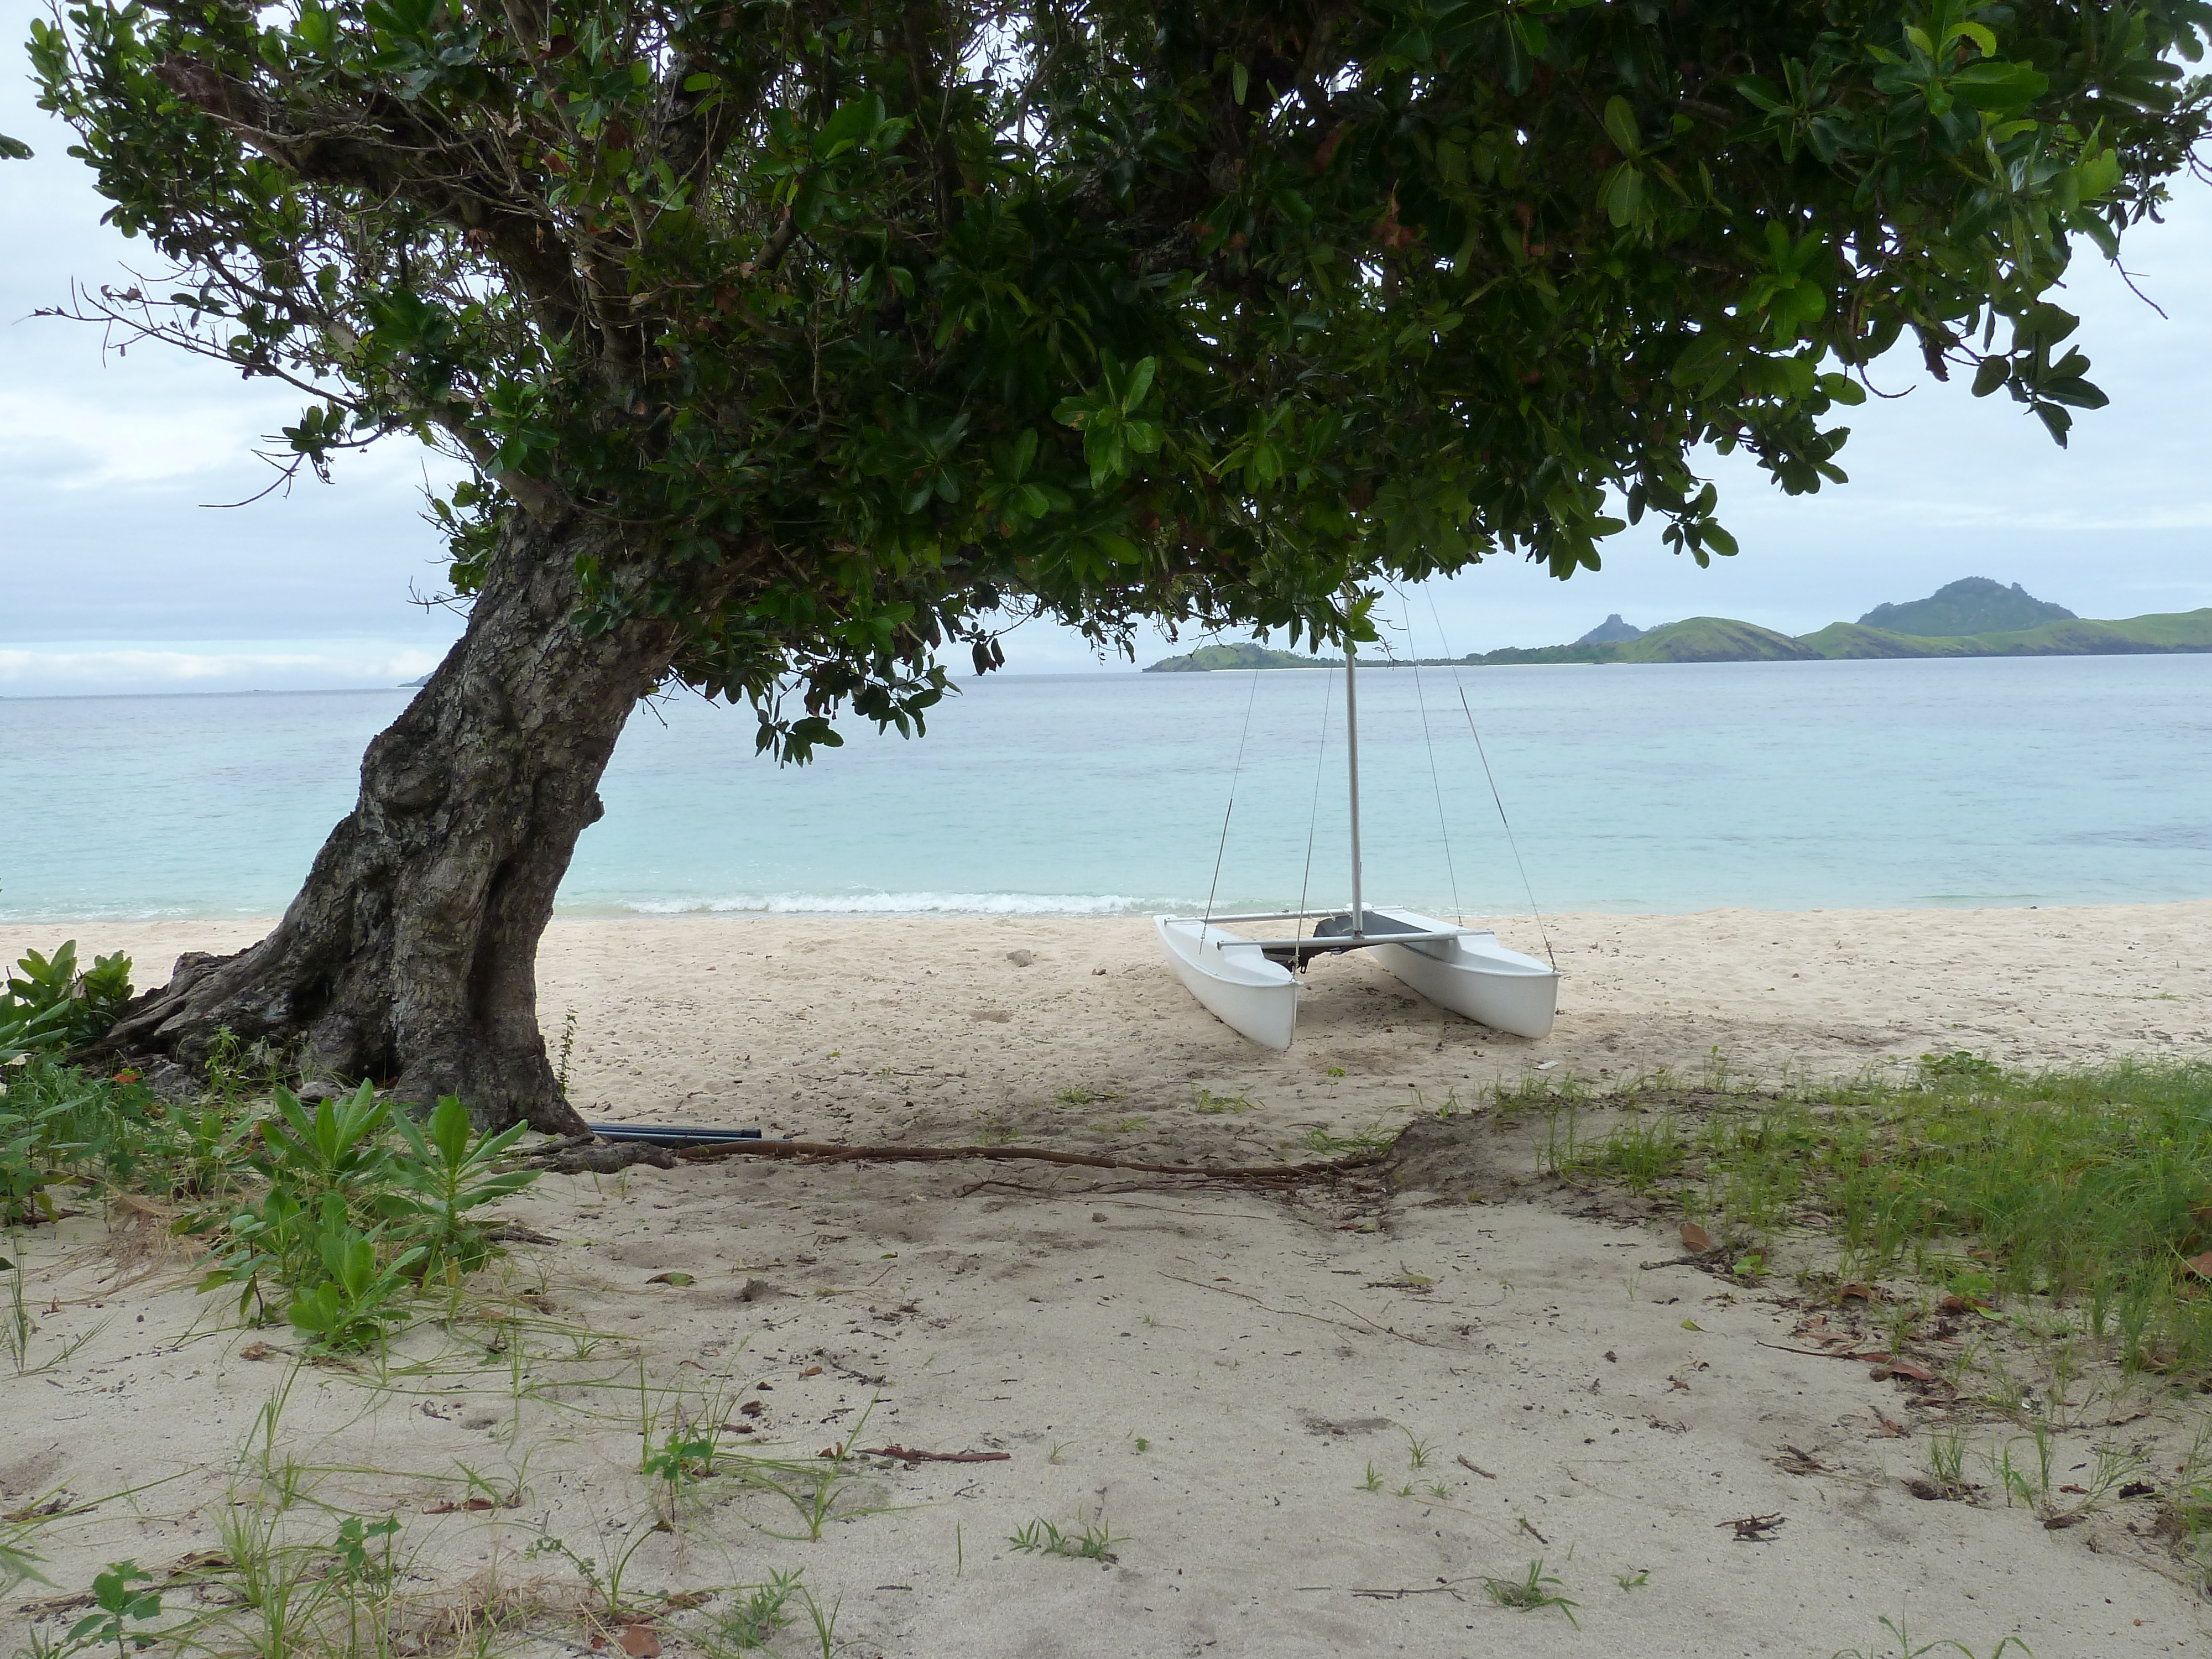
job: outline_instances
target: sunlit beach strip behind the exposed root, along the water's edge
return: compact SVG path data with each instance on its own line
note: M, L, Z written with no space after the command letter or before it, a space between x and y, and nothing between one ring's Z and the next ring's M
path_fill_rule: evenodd
M1469 918L1562 971L1551 1037L1506 1037L1418 1002L1360 956L1321 962L1298 1042L1256 1048L1175 982L1144 918L555 918L538 1013L586 1117L931 1139L978 1113L1084 1135L1064 1091L1164 1113L1135 1137L1208 1155L1292 1121L1332 1128L1515 1082L1595 1082L1712 1060L1739 1075L1849 1075L1966 1048L2006 1066L2212 1042L2212 900L2051 909L1717 909ZM248 922L0 925L0 951L75 936L128 951L139 987ZM1022 953L1029 960L1015 962ZM1332 1075L1340 1073L1340 1075ZM1192 1117L1192 1088L1259 1115Z

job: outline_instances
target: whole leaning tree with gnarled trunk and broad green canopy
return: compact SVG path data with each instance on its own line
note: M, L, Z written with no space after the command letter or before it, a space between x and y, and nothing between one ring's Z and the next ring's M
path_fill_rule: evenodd
M2203 0L80 0L44 102L170 270L84 296L414 434L460 644L219 1026L573 1128L533 956L633 703L803 761L1042 613L1371 637L1376 577L1555 575L1701 445L1843 482L1911 334L2064 442L2048 301L2208 122Z

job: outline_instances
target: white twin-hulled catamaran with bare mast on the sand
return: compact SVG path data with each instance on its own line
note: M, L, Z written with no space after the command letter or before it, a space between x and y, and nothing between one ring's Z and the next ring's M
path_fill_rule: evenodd
M1259 672L1259 670L1252 670ZM1358 670L1345 646L1345 732L1352 796L1352 905L1340 911L1254 911L1245 916L1155 916L1175 978L1232 1031L1267 1048L1287 1048L1298 1029L1305 967L1316 956L1374 951L1376 962L1440 1009L1517 1037L1551 1033L1559 971L1509 951L1482 927L1369 909L1360 894L1360 726ZM1223 834L1228 825L1223 823ZM1248 938L1232 927L1296 922L1292 938ZM1314 922L1312 931L1305 922Z

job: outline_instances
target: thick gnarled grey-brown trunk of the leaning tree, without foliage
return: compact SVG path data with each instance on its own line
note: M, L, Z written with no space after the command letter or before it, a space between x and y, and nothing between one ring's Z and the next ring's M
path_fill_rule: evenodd
M619 562L602 526L509 522L467 633L369 743L361 801L276 931L179 958L106 1048L199 1064L228 1029L400 1102L458 1095L484 1128L582 1133L538 1031L538 940L677 630L650 615L577 628L577 555Z

